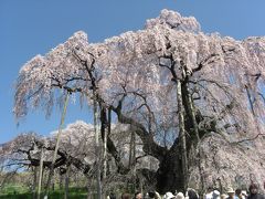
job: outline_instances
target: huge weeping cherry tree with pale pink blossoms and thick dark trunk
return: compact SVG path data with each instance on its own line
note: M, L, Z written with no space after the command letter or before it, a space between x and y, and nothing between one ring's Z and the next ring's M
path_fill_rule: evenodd
M264 135L264 64L265 38L204 34L194 18L162 10L145 30L95 44L80 31L33 57L19 73L14 114L42 107L49 115L66 92L91 105L95 100L129 124L144 153L158 159L157 171L139 171L155 176L162 193L184 190L205 137ZM118 171L129 172L110 136L107 148Z

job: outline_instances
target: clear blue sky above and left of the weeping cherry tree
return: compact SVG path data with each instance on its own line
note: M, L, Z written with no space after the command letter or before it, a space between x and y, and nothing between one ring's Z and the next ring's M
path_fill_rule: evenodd
M194 15L204 32L239 40L265 35L265 0L0 0L0 143L29 130L45 135L59 126L59 109L49 119L41 109L33 112L15 125L14 83L26 61L78 30L89 42L100 42L142 29L146 19L165 8ZM92 121L87 107L70 106L65 123L76 119Z

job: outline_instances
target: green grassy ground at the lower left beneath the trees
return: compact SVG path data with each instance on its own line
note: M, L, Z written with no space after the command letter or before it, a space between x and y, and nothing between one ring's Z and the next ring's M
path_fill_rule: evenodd
M70 198L86 198L87 192L84 188L70 188ZM32 193L23 186L6 186L0 192L0 199L32 199ZM43 197L42 197L43 198ZM49 195L49 199L64 198L63 190L54 190Z

